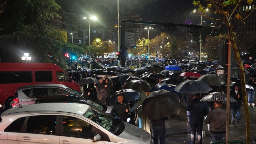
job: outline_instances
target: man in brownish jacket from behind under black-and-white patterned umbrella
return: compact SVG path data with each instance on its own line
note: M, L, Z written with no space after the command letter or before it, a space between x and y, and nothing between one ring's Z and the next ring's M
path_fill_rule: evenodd
M225 141L226 140L226 111L222 109L222 102L215 101L214 109L211 110L205 123L210 124L210 138L213 141ZM229 124L230 124L229 119Z

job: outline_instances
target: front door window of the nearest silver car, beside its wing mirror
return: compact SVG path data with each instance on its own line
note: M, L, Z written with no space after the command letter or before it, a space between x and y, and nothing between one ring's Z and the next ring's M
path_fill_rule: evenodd
M62 116L62 127L64 136L93 139L97 134L96 127L76 117Z

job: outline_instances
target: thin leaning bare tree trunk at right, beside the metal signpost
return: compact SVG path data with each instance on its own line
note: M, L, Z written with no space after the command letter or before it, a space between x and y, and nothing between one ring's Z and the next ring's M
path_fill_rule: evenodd
M233 30L232 27L228 27L228 32L230 34L230 42L233 46L233 49L235 51L235 57L239 65L239 70L240 70L240 79L241 79L241 91L242 91L242 96L243 96L243 103L244 103L244 108L245 108L245 129L246 129L246 144L250 144L250 120L251 120L251 115L250 111L247 105L247 96L246 96L246 89L245 89L245 69L240 57L240 52L238 49L238 46L235 43L234 35L233 35Z

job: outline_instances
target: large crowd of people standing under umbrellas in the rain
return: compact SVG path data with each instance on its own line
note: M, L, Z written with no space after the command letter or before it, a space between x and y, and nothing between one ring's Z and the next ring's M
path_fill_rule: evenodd
M83 96L113 106L111 115L147 131L155 144L165 142L165 121L175 116L180 106L185 106L187 111L191 144L196 139L202 143L204 122L210 125L211 141L225 140L226 111L222 105L226 102L227 80L216 76L216 70L223 68L217 60L129 59L125 67L114 62L114 59L94 60L90 63L92 69L68 73L78 84L83 79L94 78L95 81L82 84ZM254 107L256 64L243 60L243 66L248 106ZM232 69L239 74L231 78L230 123L242 124L245 117L240 116L242 93L238 64Z

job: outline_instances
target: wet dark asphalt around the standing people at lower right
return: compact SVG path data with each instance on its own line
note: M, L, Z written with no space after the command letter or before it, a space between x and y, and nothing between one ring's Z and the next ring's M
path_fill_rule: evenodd
M187 125L187 113L184 103L181 102L180 113L177 116L170 117L166 120L166 141L165 144L188 144L190 143L190 125ZM226 107L224 107L226 109ZM249 107L251 114L251 139L256 138L256 108ZM229 111L231 117L231 111ZM241 107L242 124L229 125L229 140L241 140L245 142L245 111L244 106ZM197 140L196 140L197 143ZM210 143L210 132L208 125L203 124L203 144Z

